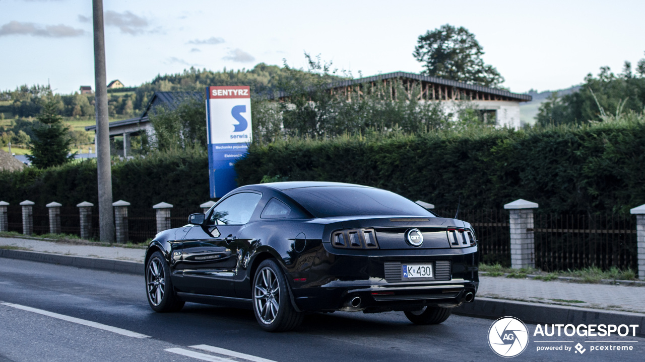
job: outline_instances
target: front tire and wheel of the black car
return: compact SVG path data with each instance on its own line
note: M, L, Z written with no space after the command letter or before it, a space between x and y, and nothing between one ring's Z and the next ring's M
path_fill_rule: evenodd
M146 296L155 312L177 312L186 303L175 294L170 267L161 251L155 251L146 263Z

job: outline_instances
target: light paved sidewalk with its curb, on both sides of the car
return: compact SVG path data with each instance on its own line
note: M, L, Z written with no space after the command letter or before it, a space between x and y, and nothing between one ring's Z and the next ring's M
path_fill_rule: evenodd
M108 247L0 238L0 257L115 272L143 275L144 255L144 249L114 245ZM547 319L553 318L566 318L568 323L618 323L611 320L629 317L629 323L638 323L639 334L644 334L645 286L640 285L642 284L584 284L561 280L480 276L475 303L466 303L454 311L485 318L513 315L534 323L551 323Z

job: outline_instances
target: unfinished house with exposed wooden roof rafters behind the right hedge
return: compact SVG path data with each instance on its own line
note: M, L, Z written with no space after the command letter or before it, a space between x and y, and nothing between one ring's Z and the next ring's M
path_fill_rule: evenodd
M417 90L419 100L441 102L443 110L449 113L459 110L461 104L466 104L484 113L487 119L495 120L497 127L521 128L520 102L531 100L531 96L526 94L404 71L333 82L328 88L333 93L346 95L351 101L353 91L365 92L369 91L370 87L384 86L395 92L396 88L393 87L395 82L401 82L408 94L411 94L412 90ZM288 94L281 93L279 98L286 100Z

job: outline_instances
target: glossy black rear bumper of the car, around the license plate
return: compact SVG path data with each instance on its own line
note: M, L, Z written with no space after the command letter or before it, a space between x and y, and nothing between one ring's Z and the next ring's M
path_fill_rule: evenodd
M426 305L456 306L466 301L468 293L474 296L479 287L477 247L468 249L470 252L459 254L446 254L444 250L428 251L426 255L335 254L328 263L313 265L308 272L288 273L287 279L300 310L347 309L355 297L360 298L357 309L366 312L419 309ZM386 274L386 265L410 262L450 263L450 274L435 274L441 280L424 281L401 281L392 276L392 269Z

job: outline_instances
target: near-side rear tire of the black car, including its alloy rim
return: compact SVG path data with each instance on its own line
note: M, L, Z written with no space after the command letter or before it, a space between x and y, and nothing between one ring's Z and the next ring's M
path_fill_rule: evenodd
M273 259L258 265L253 276L253 314L261 329L286 332L297 328L303 313L293 308L284 272Z

